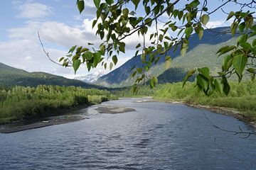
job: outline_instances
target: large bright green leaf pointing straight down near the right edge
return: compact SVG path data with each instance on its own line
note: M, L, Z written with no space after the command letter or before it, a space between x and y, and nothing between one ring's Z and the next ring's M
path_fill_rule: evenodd
M247 56L245 55L237 55L233 59L233 67L235 68L235 72L238 74L239 79L242 79L242 72L245 69L245 65L247 64Z

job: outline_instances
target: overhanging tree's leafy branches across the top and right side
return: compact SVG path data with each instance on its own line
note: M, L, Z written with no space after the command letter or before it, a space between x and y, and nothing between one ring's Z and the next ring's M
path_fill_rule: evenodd
M221 47L218 55L225 55L221 72L218 75L210 75L208 67L191 69L183 79L183 86L189 77L196 74L196 85L206 95L210 96L213 91L220 94L228 95L230 86L228 77L237 74L239 81L242 80L244 72L251 75L252 81L255 79L256 65L256 25L254 23L254 9L256 2L239 1L239 0L220 0L216 1L218 7L209 11L208 0L94 0L97 8L97 18L92 23L92 28L97 27L96 35L99 35L102 44L95 50L94 47L78 47L70 48L68 55L60 58L64 67L73 66L75 72L80 64L86 64L87 69L97 67L102 64L107 68L107 62L103 61L105 57L112 59L109 67L117 64L120 52L125 52L125 38L133 34L138 34L144 38L144 43L136 46L135 56L142 53L141 59L145 64L143 68L137 68L132 73L132 77L136 74L134 82L134 91L137 91L137 84L150 79L151 86L157 83L156 77L150 77L145 74L149 71L153 63L157 63L159 57L166 57L166 61L171 57L166 56L166 52L171 48L180 49L181 55L186 55L189 45L189 38L192 33L196 33L198 38L203 37L203 30L207 29L206 24L210 20L213 13L220 12L227 15L227 21L232 21L230 31L232 35L240 34L237 45ZM181 5L182 4L182 5ZM223 7L233 4L239 6L238 11L224 11ZM84 0L77 0L77 6L80 13L85 8ZM127 7L128 6L128 7ZM181 7L183 6L183 7ZM143 11L143 14L137 14ZM161 16L167 15L169 20L161 21ZM164 23L164 27L159 29L159 22ZM151 45L145 45L145 35L150 27L154 26L154 33L151 33ZM174 33L170 36L168 33ZM92 45L88 43L88 45Z

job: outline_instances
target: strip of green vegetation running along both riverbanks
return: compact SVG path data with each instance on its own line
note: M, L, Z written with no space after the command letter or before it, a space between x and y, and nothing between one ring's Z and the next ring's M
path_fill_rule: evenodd
M21 125L16 129L12 128L10 131L18 132L48 125L69 123L83 119L69 115L70 111L87 108L103 101L115 100L118 97L151 96L154 101L183 103L194 108L203 108L215 113L232 115L255 126L256 83L243 81L238 84L234 81L230 82L230 86L228 96L215 92L209 97L194 87L191 82L188 82L183 88L181 82L158 84L154 89L144 85L139 87L137 94L132 92L132 87L106 91L82 89L75 86L14 86L0 90L0 125L35 120L29 125ZM152 101L152 98L145 99L142 102ZM104 108L104 111L106 111L106 108ZM64 115L64 117L58 118L59 115ZM53 116L57 116L57 118L51 118Z

